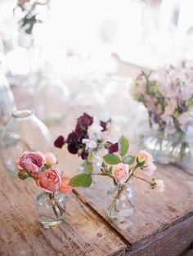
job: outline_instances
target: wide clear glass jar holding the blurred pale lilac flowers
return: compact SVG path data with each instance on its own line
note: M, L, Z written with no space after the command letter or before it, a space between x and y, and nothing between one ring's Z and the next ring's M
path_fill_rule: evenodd
M143 126L144 127L144 126ZM160 164L175 164L193 155L193 131L177 130L170 132L169 128L144 129L138 136L140 148L148 151Z

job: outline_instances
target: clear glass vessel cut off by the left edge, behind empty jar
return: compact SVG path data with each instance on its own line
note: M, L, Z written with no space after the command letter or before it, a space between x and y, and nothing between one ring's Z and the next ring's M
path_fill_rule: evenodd
M7 78L0 71L0 124L7 124L11 113L16 110L11 88Z

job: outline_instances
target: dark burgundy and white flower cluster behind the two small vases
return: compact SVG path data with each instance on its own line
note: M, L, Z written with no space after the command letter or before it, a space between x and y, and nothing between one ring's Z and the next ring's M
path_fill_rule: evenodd
M54 145L61 148L65 144L71 154L78 154L82 159L92 162L96 153L102 148L110 153L118 151L118 143L105 142L105 137L110 131L111 119L106 122L94 122L92 116L83 113L77 120L74 131L70 132L67 139L59 136Z

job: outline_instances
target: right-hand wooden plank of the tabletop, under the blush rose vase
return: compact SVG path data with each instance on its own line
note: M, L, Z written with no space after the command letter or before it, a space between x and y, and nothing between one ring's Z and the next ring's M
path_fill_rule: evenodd
M65 153L65 150L57 150L57 154L61 168L64 169L65 173L73 175L77 170L79 159L74 156L72 159ZM180 244L180 229L177 233L178 229L175 229L175 227L179 227L182 222L187 222L186 227L188 227L188 222L190 222L192 228L193 177L175 166L160 164L158 164L156 177L164 179L166 186L164 193L156 193L150 190L146 183L141 181L131 183L133 190L136 192L136 209L133 216L127 222L122 223L110 221L105 214L106 190L112 186L108 177L97 177L95 185L88 189L77 189L76 191L84 202L90 204L97 213L101 214L102 218L105 218L112 227L128 240L132 249L139 249L155 239L155 245L161 249L161 237L163 234L169 233L172 228L175 230L173 236L177 236L178 239L176 243L184 249L186 243ZM188 231L188 228L184 231ZM173 236L171 236L171 239ZM193 232L190 234L190 240L193 240ZM190 240L186 240L187 243ZM166 240L165 246L167 246L167 243L169 245L171 241ZM171 253L171 255L175 254Z

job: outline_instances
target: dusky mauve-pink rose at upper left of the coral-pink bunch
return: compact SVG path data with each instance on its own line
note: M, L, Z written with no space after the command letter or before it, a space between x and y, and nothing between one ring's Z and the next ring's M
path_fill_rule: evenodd
M23 155L20 156L20 159L16 161L16 167L19 170L25 170L29 174L37 175L40 169L43 168L45 162L46 159L42 152L25 151Z

